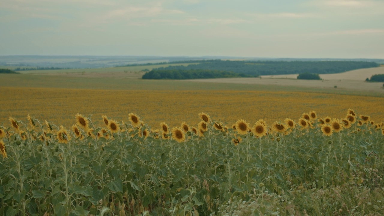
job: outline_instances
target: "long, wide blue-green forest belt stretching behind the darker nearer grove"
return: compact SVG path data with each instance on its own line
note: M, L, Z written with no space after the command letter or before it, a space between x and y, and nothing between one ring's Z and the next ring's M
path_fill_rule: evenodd
M154 70L219 70L245 73L248 75L278 75L295 73L341 73L359 68L377 67L379 64L367 61L190 61L188 66L168 66Z

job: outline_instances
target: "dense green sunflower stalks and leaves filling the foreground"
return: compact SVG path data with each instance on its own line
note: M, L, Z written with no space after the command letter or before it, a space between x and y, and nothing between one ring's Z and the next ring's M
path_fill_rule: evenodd
M121 122L118 133L101 134L102 128L87 119L91 130L80 129L78 137L68 130L68 144L59 143L57 126L50 131L35 118L28 127L17 121L23 133L2 127L7 157L0 156L0 204L5 206L0 215L96 215L98 209L119 215L224 215L233 208L280 215L384 210L366 196L370 188L384 186L382 124L354 123L324 136L313 119L311 128L296 125L257 138L224 125L219 130L212 120L204 135L189 130L186 141L177 143L158 138L161 131L145 124ZM142 136L144 129L151 135ZM235 137L242 140L238 145L232 143ZM351 187L359 193L352 196ZM332 195L336 192L345 195ZM372 194L384 197L381 189Z

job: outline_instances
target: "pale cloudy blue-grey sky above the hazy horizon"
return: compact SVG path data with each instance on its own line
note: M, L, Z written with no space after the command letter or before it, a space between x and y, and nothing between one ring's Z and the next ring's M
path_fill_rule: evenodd
M0 5L0 55L384 59L384 0L0 0Z

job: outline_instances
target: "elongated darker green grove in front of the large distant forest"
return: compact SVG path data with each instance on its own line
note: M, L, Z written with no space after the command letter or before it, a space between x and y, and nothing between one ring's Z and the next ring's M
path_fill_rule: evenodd
M235 73L232 71L219 70L151 70L145 73L143 79L207 79L207 78L231 78L231 77L257 77L244 73Z

